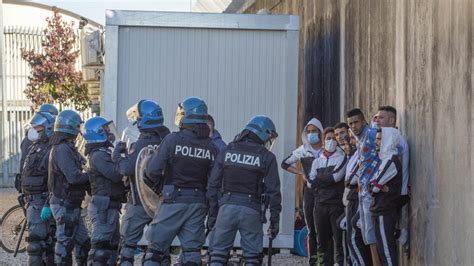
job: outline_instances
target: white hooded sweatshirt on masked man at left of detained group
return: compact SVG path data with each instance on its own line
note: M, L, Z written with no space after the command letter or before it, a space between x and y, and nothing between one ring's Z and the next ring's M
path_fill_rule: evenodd
M309 125L315 126L317 129L319 129L321 134L323 133L323 125L321 124L321 122L316 118L311 119L304 127L303 133L301 133L301 141L303 142L303 144L299 146L296 150L294 150L290 154L290 156L286 157L286 159L281 162L281 168L287 170L290 166L295 167L296 163L300 161L303 165L304 173L306 174L306 176L309 176L313 160L314 158L319 157L321 151L321 149L314 149L308 141L306 129Z

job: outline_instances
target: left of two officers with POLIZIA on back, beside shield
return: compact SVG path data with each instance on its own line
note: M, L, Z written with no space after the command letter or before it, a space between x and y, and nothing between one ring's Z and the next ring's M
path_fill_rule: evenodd
M197 97L178 105L180 131L167 136L147 165L144 181L155 191L163 185L163 203L147 233L144 265L162 265L164 252L178 236L183 265L201 265L207 214L206 186L218 153L209 138L206 103Z

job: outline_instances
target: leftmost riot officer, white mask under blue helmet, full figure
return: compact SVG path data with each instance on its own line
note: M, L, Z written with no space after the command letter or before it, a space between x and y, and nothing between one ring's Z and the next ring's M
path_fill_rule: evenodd
M28 265L54 265L54 245L51 213L41 215L48 198L49 138L53 135L54 117L49 113L36 113L30 120L38 138L32 142L25 156L21 190L26 196L28 221Z

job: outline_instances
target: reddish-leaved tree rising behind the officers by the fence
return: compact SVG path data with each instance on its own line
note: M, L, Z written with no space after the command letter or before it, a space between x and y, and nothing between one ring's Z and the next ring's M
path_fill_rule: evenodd
M89 107L90 99L82 73L75 68L80 51L74 49L74 22L63 21L56 10L46 21L43 52L21 50L22 58L31 67L24 93L36 106L49 102L82 111Z

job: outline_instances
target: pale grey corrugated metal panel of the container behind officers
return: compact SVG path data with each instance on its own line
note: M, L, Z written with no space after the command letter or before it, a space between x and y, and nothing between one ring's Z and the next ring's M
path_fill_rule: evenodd
M205 99L226 141L255 114L272 117L282 129L285 38L280 31L121 27L118 126L126 125L131 105L150 98L174 127L177 103L195 95Z

